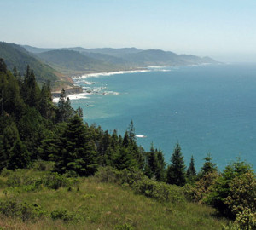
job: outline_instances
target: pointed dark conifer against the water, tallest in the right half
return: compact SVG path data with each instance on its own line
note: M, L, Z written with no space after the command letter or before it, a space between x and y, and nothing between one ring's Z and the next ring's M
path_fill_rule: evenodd
M167 183L183 186L186 183L186 173L181 147L177 143L172 153L171 163L167 169Z

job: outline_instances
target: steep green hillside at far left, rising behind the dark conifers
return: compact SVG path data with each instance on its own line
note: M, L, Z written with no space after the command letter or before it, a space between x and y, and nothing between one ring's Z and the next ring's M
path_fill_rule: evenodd
M65 78L61 72L57 72L52 67L38 60L23 47L12 43L0 43L0 57L4 59L9 70L16 67L17 71L23 75L26 72L26 66L29 65L34 71L39 84L50 81L55 88L59 86L71 86L72 80Z

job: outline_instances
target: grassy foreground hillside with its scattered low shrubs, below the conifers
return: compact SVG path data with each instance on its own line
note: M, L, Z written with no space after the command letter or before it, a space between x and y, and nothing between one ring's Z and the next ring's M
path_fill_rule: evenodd
M31 170L2 171L0 228L216 230L225 223L213 217L212 208L182 201L178 187L173 192L181 201L160 202L134 193L127 184L102 181L101 173L67 178L50 173L49 166L41 162ZM10 204L13 217L8 212ZM19 212L21 207L23 212Z

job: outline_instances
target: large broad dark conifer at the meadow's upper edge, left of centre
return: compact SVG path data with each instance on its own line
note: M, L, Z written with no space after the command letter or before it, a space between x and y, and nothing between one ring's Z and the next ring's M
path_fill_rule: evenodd
M55 170L60 173L71 171L88 176L96 172L96 145L78 115L64 129L55 161Z

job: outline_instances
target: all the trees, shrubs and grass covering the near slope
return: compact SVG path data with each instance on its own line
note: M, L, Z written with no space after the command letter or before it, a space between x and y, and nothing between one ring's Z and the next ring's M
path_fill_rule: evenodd
M84 124L64 89L54 105L49 83L3 59L0 104L2 228L255 229L256 178L240 159L219 172L208 154L196 174L177 143L167 165L137 145L132 121L123 136Z

